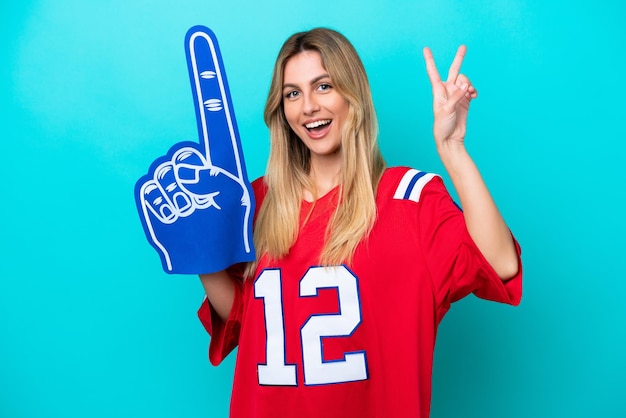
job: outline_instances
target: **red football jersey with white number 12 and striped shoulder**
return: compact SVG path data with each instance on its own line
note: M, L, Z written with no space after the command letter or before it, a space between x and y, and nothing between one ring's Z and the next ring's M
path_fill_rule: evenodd
M253 188L260 205L262 180ZM521 267L498 277L439 176L387 169L376 223L352 263L320 267L337 199L335 189L312 212L302 203L296 243L236 286L226 323L206 300L200 307L211 362L239 346L233 418L427 418L437 326L450 304L469 293L520 301Z

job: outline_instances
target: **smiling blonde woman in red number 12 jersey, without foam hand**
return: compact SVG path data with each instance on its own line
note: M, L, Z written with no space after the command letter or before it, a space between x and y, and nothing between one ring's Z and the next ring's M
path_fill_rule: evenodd
M218 364L238 346L232 417L428 417L435 335L469 293L518 304L520 250L464 146L477 95L424 49L441 178L385 168L367 76L329 29L283 45L253 183L257 261L201 275Z

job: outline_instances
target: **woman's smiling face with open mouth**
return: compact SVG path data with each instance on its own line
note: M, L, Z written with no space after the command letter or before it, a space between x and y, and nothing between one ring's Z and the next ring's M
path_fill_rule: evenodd
M317 51L285 64L283 110L291 129L311 152L311 167L341 165L341 130L350 105L334 88Z

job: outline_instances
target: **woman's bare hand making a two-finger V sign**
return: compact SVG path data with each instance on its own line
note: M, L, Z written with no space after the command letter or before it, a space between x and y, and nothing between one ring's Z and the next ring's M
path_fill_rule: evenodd
M478 95L469 79L465 75L459 74L465 51L465 45L461 45L448 70L448 79L444 82L439 76L430 48L424 48L426 71L433 89L433 112L435 115L433 134L438 147L446 144L463 143L469 104Z

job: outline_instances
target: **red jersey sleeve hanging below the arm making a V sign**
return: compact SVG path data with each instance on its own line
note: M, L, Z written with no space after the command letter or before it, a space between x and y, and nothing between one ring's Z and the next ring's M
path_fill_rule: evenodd
M419 196L420 241L443 312L470 293L495 302L518 305L522 296L521 248L515 238L518 272L503 281L472 240L461 209L441 177L433 176Z

